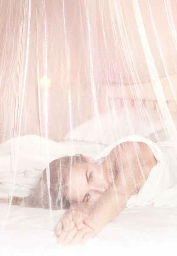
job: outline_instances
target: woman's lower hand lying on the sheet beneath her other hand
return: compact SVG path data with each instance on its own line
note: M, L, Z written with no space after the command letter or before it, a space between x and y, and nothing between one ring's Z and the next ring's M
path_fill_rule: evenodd
M74 225L74 227L68 232L62 230L57 238L57 243L62 244L63 246L74 246L78 243L79 245L83 245L88 241L88 239L93 238L96 235L97 233L93 227L91 228L83 224L82 229L77 230L77 227Z

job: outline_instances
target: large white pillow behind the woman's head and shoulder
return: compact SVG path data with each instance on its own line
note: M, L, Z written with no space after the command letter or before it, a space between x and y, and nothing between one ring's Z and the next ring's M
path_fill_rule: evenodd
M135 107L128 110L121 108L119 111L101 114L84 122L66 134L64 140L72 139L111 145L121 137L132 134L148 137L148 134L157 129L154 127L154 120L157 119L158 125L155 126L162 128L157 112L138 111Z

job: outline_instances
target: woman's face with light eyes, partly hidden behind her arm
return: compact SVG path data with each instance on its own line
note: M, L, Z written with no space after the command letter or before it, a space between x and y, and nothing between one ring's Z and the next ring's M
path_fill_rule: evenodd
M72 202L95 202L110 183L101 166L88 162L72 166L68 185Z

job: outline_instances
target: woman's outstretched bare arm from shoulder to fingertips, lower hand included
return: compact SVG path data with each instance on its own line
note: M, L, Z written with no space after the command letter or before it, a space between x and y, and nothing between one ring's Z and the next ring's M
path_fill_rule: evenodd
M89 212L93 227L83 225L81 230L75 226L69 232L64 230L57 233L58 242L63 244L85 243L112 221L126 207L128 199L134 194L135 189L140 189L145 183L149 172L156 165L157 161L148 145L144 143L122 143L111 151L108 166L117 159L118 175L114 184L107 189L92 207L83 204L83 209ZM77 206L77 207L81 207ZM82 209L82 208L80 208ZM59 223L60 224L60 223Z

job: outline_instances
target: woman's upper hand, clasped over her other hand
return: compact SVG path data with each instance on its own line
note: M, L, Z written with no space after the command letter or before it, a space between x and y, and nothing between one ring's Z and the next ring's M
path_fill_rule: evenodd
M93 227L90 217L83 213L77 207L71 207L65 212L61 221L56 226L56 236L60 236L62 231L68 232L76 226L77 230L81 230L83 227Z

